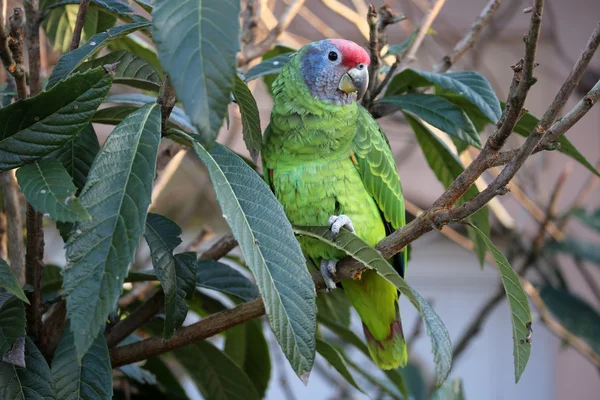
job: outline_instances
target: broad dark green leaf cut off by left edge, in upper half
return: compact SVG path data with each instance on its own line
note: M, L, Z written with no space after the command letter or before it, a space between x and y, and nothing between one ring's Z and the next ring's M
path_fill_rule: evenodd
M39 160L73 140L88 125L111 82L97 68L0 109L0 171Z

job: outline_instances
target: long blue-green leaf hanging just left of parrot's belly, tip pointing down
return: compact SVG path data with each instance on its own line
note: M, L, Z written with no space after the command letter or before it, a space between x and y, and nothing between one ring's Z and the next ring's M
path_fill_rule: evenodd
M193 146L257 280L271 329L296 374L306 381L315 357L315 288L283 207L235 153L219 144L210 153L196 142Z

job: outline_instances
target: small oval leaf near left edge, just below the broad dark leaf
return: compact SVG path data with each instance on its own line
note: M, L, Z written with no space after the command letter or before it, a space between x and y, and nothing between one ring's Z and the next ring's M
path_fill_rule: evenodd
M91 219L75 197L77 188L62 164L53 158L36 161L17 170L19 187L31 206L55 221Z

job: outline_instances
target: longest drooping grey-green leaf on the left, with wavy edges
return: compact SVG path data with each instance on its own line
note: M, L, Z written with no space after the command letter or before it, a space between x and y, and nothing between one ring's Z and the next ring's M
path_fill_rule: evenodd
M108 136L79 200L92 221L77 222L66 244L67 315L81 359L121 294L146 223L160 141L160 107L130 114Z

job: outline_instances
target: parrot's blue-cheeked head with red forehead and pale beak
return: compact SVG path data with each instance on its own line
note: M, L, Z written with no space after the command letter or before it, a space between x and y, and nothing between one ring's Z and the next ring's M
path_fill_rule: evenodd
M311 94L334 104L349 104L352 93L361 98L369 86L369 54L350 40L326 39L299 51L300 73Z

